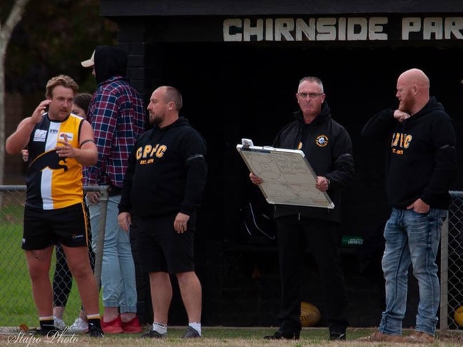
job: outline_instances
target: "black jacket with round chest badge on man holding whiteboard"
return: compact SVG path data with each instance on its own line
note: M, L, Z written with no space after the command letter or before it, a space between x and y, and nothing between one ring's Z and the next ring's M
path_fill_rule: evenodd
M296 120L287 124L274 140L273 146L283 149L301 149L317 176L326 176L331 183L328 196L335 207L306 207L275 205L274 217L300 215L340 222L340 191L354 177L353 149L345 128L331 118L330 107L323 102L321 113L309 124L303 122L301 111L294 112Z

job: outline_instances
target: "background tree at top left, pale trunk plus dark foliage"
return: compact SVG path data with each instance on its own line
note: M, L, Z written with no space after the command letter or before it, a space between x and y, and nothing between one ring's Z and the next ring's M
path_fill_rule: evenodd
M54 75L70 75L79 92L93 92L95 78L80 61L90 58L95 46L117 43L117 25L99 11L98 0L0 1L0 23L6 21L0 26L0 184L8 122L4 92L29 96L24 117L43 99L46 82Z

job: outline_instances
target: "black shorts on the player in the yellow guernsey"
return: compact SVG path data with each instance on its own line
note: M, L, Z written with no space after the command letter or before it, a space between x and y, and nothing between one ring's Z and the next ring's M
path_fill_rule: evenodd
M68 247L88 246L88 214L84 203L56 210L24 208L23 250L43 250L61 242Z

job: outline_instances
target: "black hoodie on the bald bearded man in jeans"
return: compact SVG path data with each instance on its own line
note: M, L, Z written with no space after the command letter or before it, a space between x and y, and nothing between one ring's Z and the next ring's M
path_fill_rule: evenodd
M394 110L378 112L362 134L390 143L385 188L392 207L407 208L421 198L432 208L449 208L457 140L452 119L435 97L404 122L394 118Z

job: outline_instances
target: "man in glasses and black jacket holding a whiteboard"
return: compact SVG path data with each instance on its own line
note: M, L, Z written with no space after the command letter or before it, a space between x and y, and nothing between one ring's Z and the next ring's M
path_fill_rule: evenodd
M323 83L316 77L299 81L296 99L301 108L293 122L277 134L272 146L300 149L317 175L316 188L326 192L335 207L330 209L297 205L275 205L281 303L279 330L265 336L271 340L298 339L301 332L301 264L308 247L321 277L330 340L345 340L348 298L340 267L338 226L340 191L353 181L354 160L350 136L331 118ZM251 182L262 179L249 173Z

